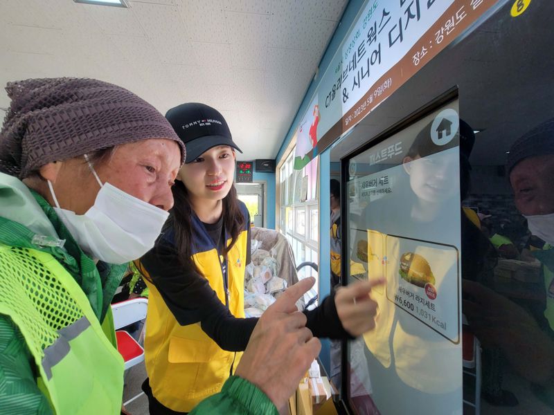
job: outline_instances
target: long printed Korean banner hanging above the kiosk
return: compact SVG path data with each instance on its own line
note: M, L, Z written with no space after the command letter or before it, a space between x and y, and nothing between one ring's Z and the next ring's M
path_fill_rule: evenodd
M294 168L354 127L496 2L368 1L298 127Z

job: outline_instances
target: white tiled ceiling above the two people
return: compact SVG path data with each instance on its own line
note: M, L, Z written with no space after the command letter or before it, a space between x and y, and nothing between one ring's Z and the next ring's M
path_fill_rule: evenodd
M93 77L162 113L204 102L223 113L249 160L276 157L348 1L128 3L0 0L0 84Z

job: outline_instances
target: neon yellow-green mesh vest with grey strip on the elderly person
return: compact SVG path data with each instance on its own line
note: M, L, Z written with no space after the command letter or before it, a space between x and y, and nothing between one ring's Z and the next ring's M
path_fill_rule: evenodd
M120 413L123 358L52 255L0 243L0 313L24 336L55 414Z

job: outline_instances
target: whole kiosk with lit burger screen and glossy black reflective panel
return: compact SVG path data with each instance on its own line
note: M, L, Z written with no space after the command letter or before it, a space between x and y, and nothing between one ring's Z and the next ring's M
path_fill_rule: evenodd
M349 414L554 413L553 13L494 2L330 147L342 283L386 281Z

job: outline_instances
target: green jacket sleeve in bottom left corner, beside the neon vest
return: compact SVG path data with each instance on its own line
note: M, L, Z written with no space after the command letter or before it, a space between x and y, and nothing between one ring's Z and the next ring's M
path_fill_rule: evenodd
M0 414L52 414L23 335L6 315L0 315Z

